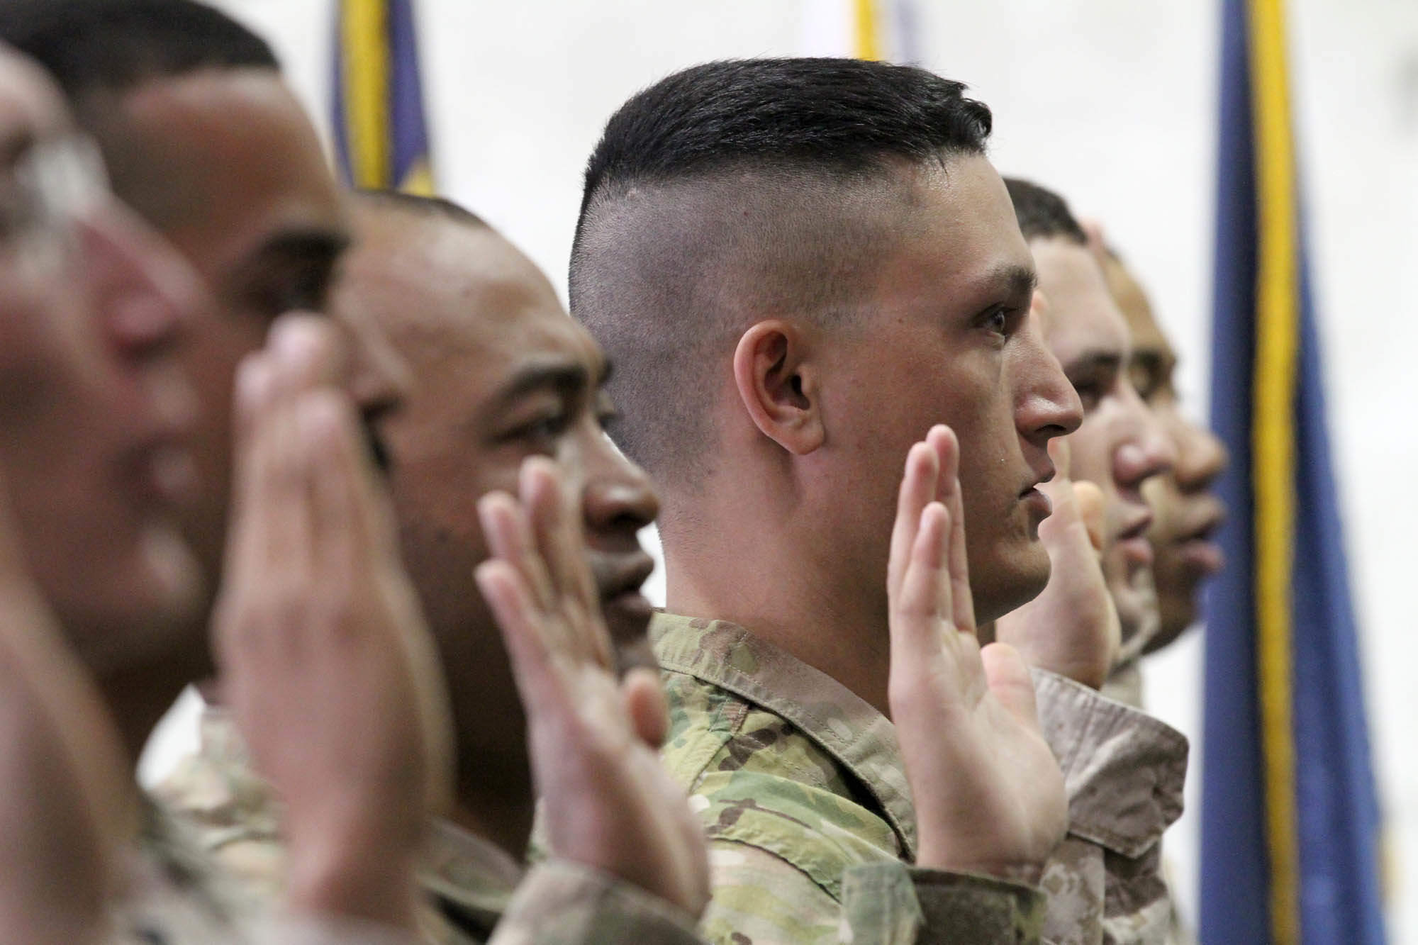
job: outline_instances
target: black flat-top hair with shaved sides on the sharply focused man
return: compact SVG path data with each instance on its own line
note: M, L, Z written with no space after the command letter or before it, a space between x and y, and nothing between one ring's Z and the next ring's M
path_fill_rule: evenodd
M613 433L652 477L705 471L703 392L742 331L849 311L893 236L882 194L984 152L990 109L964 88L909 65L727 60L611 116L586 166L571 314L615 363Z

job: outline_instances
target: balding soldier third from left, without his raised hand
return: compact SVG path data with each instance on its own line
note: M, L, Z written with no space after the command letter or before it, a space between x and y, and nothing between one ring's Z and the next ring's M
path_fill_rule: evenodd
M617 880L610 863L587 870L559 860L527 875L527 726L498 624L474 583L488 541L469 497L516 492L523 458L554 457L583 509L597 610L618 663L652 665L649 609L638 595L651 563L635 534L654 521L657 499L601 431L604 363L536 267L471 213L398 194L359 194L354 209L359 240L337 304L387 332L417 377L383 433L403 553L455 707L455 812L434 826L421 864L435 907L423 915L425 938L486 942L510 910L542 924L543 935L562 915L556 941L698 941L692 901ZM207 847L251 898L279 901L279 819L223 709L207 711L201 751L157 790L201 824ZM682 795L676 803L683 809ZM547 894L532 895L537 887ZM580 931L569 925L576 911L586 917Z

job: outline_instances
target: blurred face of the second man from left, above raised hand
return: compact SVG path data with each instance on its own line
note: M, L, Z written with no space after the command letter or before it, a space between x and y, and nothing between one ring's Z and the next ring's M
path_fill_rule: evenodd
M323 308L346 243L345 209L309 119L274 70L159 77L123 92L109 118L94 102L85 111L115 190L187 257L217 302L184 352L203 406L204 487L187 532L214 580L237 363L278 315Z

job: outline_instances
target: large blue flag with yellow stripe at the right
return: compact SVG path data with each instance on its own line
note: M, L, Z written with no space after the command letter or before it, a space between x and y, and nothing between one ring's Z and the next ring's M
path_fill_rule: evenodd
M1201 939L1384 941L1380 816L1290 131L1283 0L1224 0Z

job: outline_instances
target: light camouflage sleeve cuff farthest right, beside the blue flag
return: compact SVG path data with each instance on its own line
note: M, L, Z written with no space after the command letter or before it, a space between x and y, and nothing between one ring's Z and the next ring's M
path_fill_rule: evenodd
M1041 885L1056 945L1166 941L1161 834L1181 814L1187 739L1161 721L1034 670L1039 724L1064 769L1069 833Z

